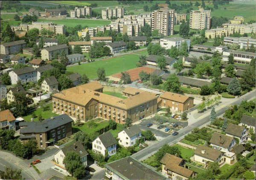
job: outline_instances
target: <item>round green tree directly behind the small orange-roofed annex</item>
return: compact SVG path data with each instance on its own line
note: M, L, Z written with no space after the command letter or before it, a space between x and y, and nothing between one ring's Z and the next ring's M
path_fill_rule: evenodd
M163 84L165 90L173 93L180 93L180 81L176 74L171 74L167 79L166 82Z

